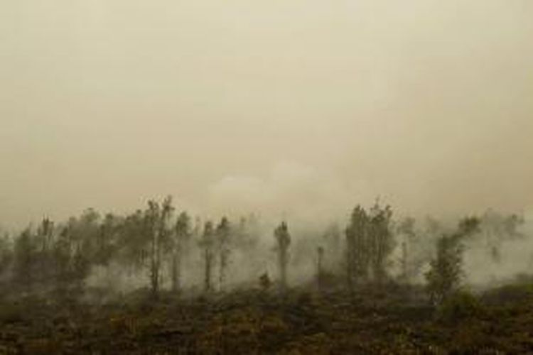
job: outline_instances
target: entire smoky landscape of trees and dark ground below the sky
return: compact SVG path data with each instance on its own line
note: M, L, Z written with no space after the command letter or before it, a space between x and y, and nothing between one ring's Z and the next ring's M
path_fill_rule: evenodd
M529 221L209 219L171 196L0 239L2 354L533 351Z

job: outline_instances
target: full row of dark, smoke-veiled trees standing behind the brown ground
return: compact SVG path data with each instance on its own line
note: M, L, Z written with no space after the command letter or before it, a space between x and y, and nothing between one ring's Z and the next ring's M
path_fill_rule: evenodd
M502 243L524 238L522 224L522 217L492 211L465 217L453 227L431 218L422 223L395 220L391 207L375 203L368 209L355 207L344 229L333 224L318 237L300 236L299 244L293 241L289 223L280 222L267 232L270 248L261 249L265 231L253 214L235 222L227 217L202 221L177 212L167 197L125 216L101 216L87 209L67 222L43 219L36 228L3 236L0 281L14 292L83 293L95 268L122 268L142 275L151 295L158 297L162 288L182 293L183 276L193 272L190 258L197 258L202 272L196 283L204 293L213 293L230 288L236 253L249 258L247 266L254 256L273 253L274 280L266 272L249 280L264 290L274 282L281 293L289 288L291 261L297 256L312 260L312 281L320 290L335 287L353 294L362 285L422 280L431 300L440 303L461 287L465 249L481 246L498 263ZM316 252L310 253L309 245ZM163 278L169 282L163 285Z

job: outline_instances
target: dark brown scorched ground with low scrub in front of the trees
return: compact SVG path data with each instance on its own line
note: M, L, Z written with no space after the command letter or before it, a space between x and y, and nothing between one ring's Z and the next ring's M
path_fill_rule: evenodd
M444 313L401 288L4 297L0 354L533 354L532 290L506 286Z

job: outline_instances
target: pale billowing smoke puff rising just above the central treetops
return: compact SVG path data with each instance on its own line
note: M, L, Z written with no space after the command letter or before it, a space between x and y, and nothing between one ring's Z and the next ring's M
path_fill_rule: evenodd
M327 170L284 161L265 178L230 175L212 184L208 210L218 214L256 212L270 221L323 226L344 218L356 202L368 202L365 184L346 186Z

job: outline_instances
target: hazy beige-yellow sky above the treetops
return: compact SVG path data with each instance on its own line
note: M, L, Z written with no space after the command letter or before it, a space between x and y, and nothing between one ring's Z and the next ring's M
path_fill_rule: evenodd
M0 224L533 208L531 0L0 4Z

